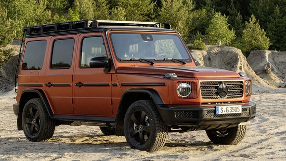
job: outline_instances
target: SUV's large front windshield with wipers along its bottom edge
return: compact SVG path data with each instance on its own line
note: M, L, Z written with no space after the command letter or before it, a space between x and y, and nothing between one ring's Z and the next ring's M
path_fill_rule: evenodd
M154 62L180 59L191 62L183 42L175 34L111 33L111 41L119 62L149 59ZM171 61L172 62L172 61Z

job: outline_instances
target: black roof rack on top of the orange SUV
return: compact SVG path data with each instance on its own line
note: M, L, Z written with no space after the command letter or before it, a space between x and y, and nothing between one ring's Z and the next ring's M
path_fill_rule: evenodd
M55 32L95 29L97 26L144 26L171 29L171 25L165 22L81 20L23 27L22 31L28 35L38 35Z

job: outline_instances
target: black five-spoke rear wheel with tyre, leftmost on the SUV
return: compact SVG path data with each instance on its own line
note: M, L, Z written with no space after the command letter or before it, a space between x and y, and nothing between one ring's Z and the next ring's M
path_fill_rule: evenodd
M31 99L23 109L22 126L29 141L40 142L52 137L55 121L49 118L47 109L40 99Z

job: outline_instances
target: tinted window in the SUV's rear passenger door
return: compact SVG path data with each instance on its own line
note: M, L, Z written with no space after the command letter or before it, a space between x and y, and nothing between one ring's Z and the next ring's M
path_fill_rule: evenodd
M70 68L73 57L73 48L73 39L54 41L51 55L51 68Z

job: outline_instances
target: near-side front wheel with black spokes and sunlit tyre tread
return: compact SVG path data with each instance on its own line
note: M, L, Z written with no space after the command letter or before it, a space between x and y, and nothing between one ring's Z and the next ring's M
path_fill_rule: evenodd
M168 128L152 101L133 103L124 118L124 134L132 149L153 152L160 150L167 138Z

